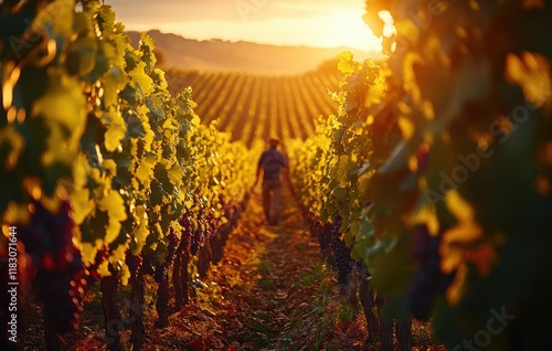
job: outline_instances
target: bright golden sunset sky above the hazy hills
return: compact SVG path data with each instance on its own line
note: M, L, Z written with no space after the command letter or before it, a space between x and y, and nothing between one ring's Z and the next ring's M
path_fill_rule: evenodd
M364 0L107 0L127 30L189 39L380 51Z

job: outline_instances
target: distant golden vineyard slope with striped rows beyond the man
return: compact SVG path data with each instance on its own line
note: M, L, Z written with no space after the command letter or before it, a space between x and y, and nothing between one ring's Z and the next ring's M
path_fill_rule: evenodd
M270 136L288 140L312 135L320 115L336 113L328 88L338 88L339 79L339 72L330 71L274 76L167 71L172 91L193 86L197 111L205 121L216 119L232 140L247 146Z

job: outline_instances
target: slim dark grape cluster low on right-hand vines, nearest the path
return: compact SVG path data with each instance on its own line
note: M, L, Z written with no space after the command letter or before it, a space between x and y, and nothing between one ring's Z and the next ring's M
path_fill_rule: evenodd
M354 262L351 258L351 248L341 240L341 216L336 214L331 224L330 247L333 252L333 262L338 272L338 284L341 288L347 287L351 280Z

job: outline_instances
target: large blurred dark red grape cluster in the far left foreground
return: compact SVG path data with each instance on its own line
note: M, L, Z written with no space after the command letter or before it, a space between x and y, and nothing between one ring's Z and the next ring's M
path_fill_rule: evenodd
M81 252L73 245L71 205L63 201L56 214L40 202L32 206L32 221L19 228L19 235L32 259L33 284L46 318L57 332L66 333L77 326L87 285Z

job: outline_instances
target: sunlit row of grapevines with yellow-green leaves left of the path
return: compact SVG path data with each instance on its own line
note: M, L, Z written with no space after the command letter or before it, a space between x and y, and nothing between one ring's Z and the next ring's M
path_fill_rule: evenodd
M221 259L253 183L254 151L201 125L190 88L172 97L151 39L132 47L99 1L2 1L0 29L0 254L12 257L17 241L18 256L17 274L2 264L2 281L19 302L40 298L49 350L76 328L97 280L105 340L120 349L117 286L130 284L126 320L139 350L145 275L158 284L164 327L170 268L178 309L189 272L204 275ZM10 326L6 290L0 302ZM3 329L0 348L21 338Z

